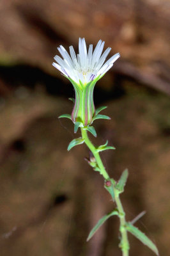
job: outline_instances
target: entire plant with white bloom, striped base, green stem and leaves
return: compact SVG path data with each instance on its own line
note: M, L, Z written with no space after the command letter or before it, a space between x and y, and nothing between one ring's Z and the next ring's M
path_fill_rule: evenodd
M104 177L104 188L107 189L111 195L112 201L116 205L113 211L105 214L92 228L89 232L87 241L94 236L98 228L100 228L104 222L111 218L111 216L118 216L120 219L120 248L123 256L128 256L129 253L129 243L128 243L128 232L137 237L143 244L148 246L156 255L158 255L158 250L155 244L137 227L134 226L135 221L139 220L142 214L139 214L134 220L127 221L125 218L125 211L123 205L121 204L120 195L123 193L125 184L127 182L128 170L124 170L118 181L109 177L105 166L100 158L100 152L104 150L115 148L108 146L108 141L104 145L96 147L89 140L88 132L91 132L93 136L97 137L97 132L95 128L91 125L94 120L97 119L110 119L109 116L100 115L100 111L107 108L106 106L95 109L93 102L93 90L97 81L104 76L104 74L112 67L114 61L118 60L120 57L119 53L114 54L109 60L106 60L111 47L108 47L104 53L104 42L102 40L98 41L95 50L93 51L93 45L90 44L87 50L86 42L84 38L79 38L79 54L75 54L72 46L70 46L70 55L66 49L60 45L58 51L63 57L56 55L54 60L57 63L52 63L62 74L65 76L73 85L75 90L75 99L71 99L74 102L72 115L64 114L59 116L59 118L70 118L74 124L74 132L81 129L81 137L76 138L70 142L68 145L68 151L75 147L76 145L85 143L89 150L91 151L91 157L88 160L89 165L93 170L99 172Z

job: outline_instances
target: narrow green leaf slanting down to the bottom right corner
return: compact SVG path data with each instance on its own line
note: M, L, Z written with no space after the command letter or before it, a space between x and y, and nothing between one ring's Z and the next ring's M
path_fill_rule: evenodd
M155 246L155 244L143 232L141 232L141 230L139 230L137 227L134 227L130 223L126 224L126 229L132 235L137 237L137 239L139 239L143 244L148 246L153 252L155 252L156 255L158 255L157 246Z

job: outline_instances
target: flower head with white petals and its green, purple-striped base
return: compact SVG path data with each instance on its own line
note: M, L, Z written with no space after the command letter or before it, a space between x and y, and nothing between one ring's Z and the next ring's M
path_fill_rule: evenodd
M93 102L95 83L104 76L112 67L114 61L120 57L120 54L116 53L105 62L111 47L107 48L102 54L103 49L104 42L99 40L95 51L93 51L92 44L89 45L87 51L85 39L79 38L79 54L77 56L72 46L70 46L69 55L66 49L60 45L58 51L63 59L58 55L54 57L57 63L52 63L52 65L70 80L75 89L75 103L72 111L72 121L75 127L80 124L82 127L88 127L92 124L95 118Z

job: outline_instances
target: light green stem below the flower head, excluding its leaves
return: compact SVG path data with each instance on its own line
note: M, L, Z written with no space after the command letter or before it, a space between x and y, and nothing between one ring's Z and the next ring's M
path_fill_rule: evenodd
M97 161L98 168L100 168L100 174L104 177L105 180L108 180L109 175L105 170L104 164L102 163L99 153L97 152L95 146L89 140L86 129L81 128L81 133L82 133L82 138L84 139L84 142L88 146L89 150L91 150L91 152L93 153L93 156ZM128 244L127 230L125 228L125 225L126 225L125 211L123 210L123 206L121 204L120 193L118 189L116 189L114 185L113 185L113 189L114 189L114 195L115 195L115 198L113 199L116 202L118 212L119 212L118 217L120 218L120 233L121 233L120 248L122 251L122 255L128 256L129 244Z

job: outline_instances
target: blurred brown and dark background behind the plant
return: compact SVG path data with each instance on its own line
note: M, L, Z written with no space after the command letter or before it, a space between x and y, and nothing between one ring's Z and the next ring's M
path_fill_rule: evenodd
M77 49L79 36L121 54L95 87L96 106L108 106L112 119L96 121L94 142L116 147L102 159L115 179L129 170L121 196L127 220L145 210L136 225L168 254L169 7L169 0L1 0L1 256L121 255L116 216L86 243L113 205L84 161L85 145L66 151L72 122L58 120L72 112L73 88L53 57L59 44ZM129 239L130 256L153 255Z

